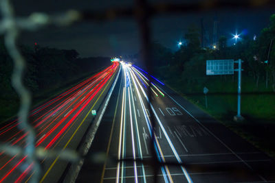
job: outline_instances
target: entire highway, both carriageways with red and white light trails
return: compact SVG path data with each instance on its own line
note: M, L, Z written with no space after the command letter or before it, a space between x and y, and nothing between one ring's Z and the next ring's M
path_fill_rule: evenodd
M80 151L99 124L76 182L275 181L272 158L148 77L137 66L113 62L37 106L30 112L36 147ZM0 141L25 147L19 123L2 125ZM30 182L36 173L25 157L2 151L0 159L0 182ZM40 182L64 182L72 164L54 156L41 159L41 167Z

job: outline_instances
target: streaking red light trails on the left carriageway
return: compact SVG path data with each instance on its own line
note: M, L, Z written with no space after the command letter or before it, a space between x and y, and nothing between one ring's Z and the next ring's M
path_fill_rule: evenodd
M107 82L111 80L112 76L118 70L118 66L118 62L113 62L111 66L103 71L80 82L80 84L57 95L41 106L34 108L34 110L30 112L30 122L38 132L36 139L39 140L36 140L36 147L42 145L45 149L51 148L61 135L70 129L69 126L76 121L80 114L83 114L88 105L93 102L92 100L98 97L98 93L100 93L102 88L106 87ZM19 125L19 123L21 122L15 119L1 127L0 140L5 143L10 143L10 145L23 145L23 147L26 147L25 137L28 133L14 128ZM43 132L45 132L45 134L42 134ZM5 151L2 151L0 157L0 164L3 164L0 168L0 176L3 176L0 182L3 182L6 178L12 178L11 174L17 172L15 170L25 161L27 156L18 159L16 158L17 155L11 157L6 155ZM26 164L24 166L26 166ZM32 172L32 167L33 164L28 164L28 167L21 172L21 175L19 177L17 176L15 182L22 182L25 177ZM20 171L20 169L18 170Z

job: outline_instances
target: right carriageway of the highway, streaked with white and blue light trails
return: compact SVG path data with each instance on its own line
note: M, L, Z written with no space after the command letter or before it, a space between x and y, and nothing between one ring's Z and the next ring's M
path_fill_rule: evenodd
M122 64L76 182L275 181L272 158L152 81L149 88L148 73Z

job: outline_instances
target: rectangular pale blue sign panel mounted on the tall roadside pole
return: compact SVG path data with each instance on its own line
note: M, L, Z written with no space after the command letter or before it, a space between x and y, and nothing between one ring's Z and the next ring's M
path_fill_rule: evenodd
M234 60L206 60L206 75L234 74Z

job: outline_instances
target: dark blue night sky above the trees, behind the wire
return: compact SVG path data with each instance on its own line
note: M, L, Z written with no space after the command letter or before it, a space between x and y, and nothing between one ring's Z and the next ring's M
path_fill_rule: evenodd
M175 1L175 3L178 2L181 1ZM117 6L129 7L134 4L134 1L16 0L13 3L17 15L28 16L32 12L56 13L72 9L102 10ZM217 14L219 36L227 36L228 44L232 44L231 35L236 31L247 34L251 38L254 34L259 34L263 27L267 27L270 15L273 13L275 13L274 10L265 8L261 10L230 9L217 12L155 16L151 20L152 36L153 40L157 40L175 51L177 41L184 38L188 25L195 24L200 28L201 18L203 18L205 29L211 37L214 17ZM41 46L76 49L82 57L135 54L140 49L137 24L132 19L120 19L104 23L77 23L70 27L61 28L51 26L38 32L23 32L19 42L30 46L37 42Z

